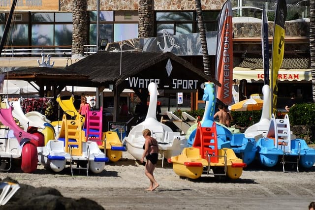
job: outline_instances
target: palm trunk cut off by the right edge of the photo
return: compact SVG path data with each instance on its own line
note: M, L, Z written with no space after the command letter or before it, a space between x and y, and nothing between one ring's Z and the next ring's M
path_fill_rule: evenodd
M310 56L312 69L312 95L315 102L315 0L310 0Z

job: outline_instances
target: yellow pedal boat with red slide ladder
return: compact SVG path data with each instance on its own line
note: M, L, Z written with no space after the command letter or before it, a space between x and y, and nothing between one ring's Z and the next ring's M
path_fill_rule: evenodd
M206 170L207 175L235 180L241 177L243 168L246 167L246 163L232 149L218 150L215 123L213 127L201 127L200 122L193 146L184 148L180 155L169 158L168 162L173 163L175 174L189 179L198 179Z

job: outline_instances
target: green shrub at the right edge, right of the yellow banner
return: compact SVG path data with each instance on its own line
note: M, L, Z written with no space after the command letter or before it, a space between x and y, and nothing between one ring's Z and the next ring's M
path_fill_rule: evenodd
M295 104L288 116L290 125L315 125L315 103Z

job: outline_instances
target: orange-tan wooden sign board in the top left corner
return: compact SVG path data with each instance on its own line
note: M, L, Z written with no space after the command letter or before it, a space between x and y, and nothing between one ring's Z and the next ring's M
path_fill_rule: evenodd
M0 0L0 10L9 11L13 0ZM15 11L59 11L59 0L18 0Z

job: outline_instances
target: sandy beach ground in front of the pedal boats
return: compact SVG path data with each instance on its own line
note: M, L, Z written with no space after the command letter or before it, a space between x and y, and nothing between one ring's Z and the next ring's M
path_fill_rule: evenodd
M288 165L289 172L284 173L280 166L266 169L255 165L244 169L238 180L218 181L213 176L188 180L179 178L165 161L162 168L159 160L154 173L160 184L156 191L144 190L149 186L144 166L128 152L118 162L106 164L100 174L88 177L84 170L74 171L72 177L69 168L56 174L38 165L33 174L11 171L0 173L0 178L53 187L64 197L85 197L105 210L306 210L315 201L315 167L308 171L300 168L297 173Z

